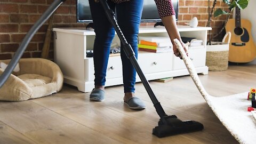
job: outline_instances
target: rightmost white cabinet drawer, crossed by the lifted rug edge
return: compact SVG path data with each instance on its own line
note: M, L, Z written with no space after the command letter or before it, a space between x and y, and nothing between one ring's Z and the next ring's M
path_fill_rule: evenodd
M203 67L205 66L205 58L206 58L206 49L190 49L188 50L188 56L192 59L195 67ZM186 69L186 66L179 57L176 57L173 54L173 69Z

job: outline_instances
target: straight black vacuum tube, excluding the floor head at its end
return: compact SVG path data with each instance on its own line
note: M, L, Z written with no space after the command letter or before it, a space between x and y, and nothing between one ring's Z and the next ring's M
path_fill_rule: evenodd
M160 117L166 116L162 106L160 105L160 103L156 99L155 94L154 94L154 92L152 91L152 89L149 85L149 82L147 81L145 75L143 74L137 59L135 58L135 54L134 54L134 51L133 51L131 45L129 43L127 43L120 27L117 24L117 21L116 21L116 18L115 18L115 13L109 8L109 5L108 5L106 0L100 0L100 3L103 6L103 9L105 10L105 12L107 14L107 18L108 18L109 22L113 25L113 27L114 27L114 29L115 29L115 31L116 31L116 33L117 33L117 35L118 35L118 37L121 41L121 44L124 47L124 52L125 52L126 56L130 59L132 65L135 68L135 70L137 71L137 73L138 73L138 75L141 79L141 82L143 83L151 101L153 102L154 107L156 108L157 114Z

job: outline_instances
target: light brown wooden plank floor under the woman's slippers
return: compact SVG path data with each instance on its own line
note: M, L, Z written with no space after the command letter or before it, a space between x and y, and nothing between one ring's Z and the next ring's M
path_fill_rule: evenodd
M231 65L227 71L200 75L206 91L217 97L256 87L256 65ZM106 89L106 100L90 102L89 94L64 85L49 97L0 102L0 143L238 143L213 114L189 76L167 83L150 81L167 115L204 124L200 132L157 138L152 129L159 117L142 83L136 95L147 109L123 104L123 86Z

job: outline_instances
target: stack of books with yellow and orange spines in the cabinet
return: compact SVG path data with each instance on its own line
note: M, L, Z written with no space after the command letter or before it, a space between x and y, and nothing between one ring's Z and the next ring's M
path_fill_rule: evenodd
M139 36L139 51L172 52L172 43L169 37Z

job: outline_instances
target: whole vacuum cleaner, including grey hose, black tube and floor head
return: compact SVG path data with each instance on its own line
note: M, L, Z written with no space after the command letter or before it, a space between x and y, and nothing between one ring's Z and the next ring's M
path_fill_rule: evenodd
M13 59L10 61L9 65L5 69L4 73L0 76L0 88L6 82L7 78L10 76L11 72L17 65L20 60L23 52L25 51L27 45L31 41L31 38L35 35L36 31L43 25L43 23L52 15L52 13L66 0L55 0L50 7L43 13L41 18L35 23L35 25L28 31L28 34L23 39L19 49L15 53ZM134 51L129 43L127 43L121 29L119 28L115 13L109 8L107 0L100 0L103 9L106 12L107 18L111 25L115 28L115 31L123 45L123 49L125 51L126 56L130 59L133 67L137 71L141 82L143 83L151 101L154 104L154 107L159 115L160 119L158 122L158 126L153 129L153 134L159 138L166 137L169 135L188 133L194 131L203 130L203 124L196 121L181 121L175 115L168 116L165 114L163 107L160 102L156 99L155 94L153 93L149 82L147 81L145 75L143 74L137 59L135 58Z

